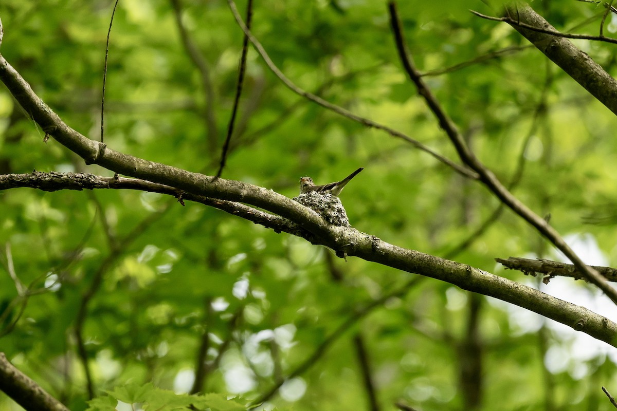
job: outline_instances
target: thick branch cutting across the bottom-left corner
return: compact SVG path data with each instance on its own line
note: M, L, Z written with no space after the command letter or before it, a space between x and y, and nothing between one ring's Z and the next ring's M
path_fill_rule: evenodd
M69 411L0 352L0 390L28 411Z

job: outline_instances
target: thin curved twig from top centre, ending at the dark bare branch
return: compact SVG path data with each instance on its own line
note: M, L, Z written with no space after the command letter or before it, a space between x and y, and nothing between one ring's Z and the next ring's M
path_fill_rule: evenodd
M429 149L429 147L427 147L426 145L422 144L420 141L415 140L412 137L407 136L407 134L404 134L404 133L402 133L400 131L397 131L395 129L389 128L388 126L384 126L383 124L376 123L375 121L370 120L368 118L365 118L365 117L362 117L362 116L358 116L358 115L350 112L349 110L346 110L345 108L342 108L342 107L340 107L340 106L338 106L336 104L332 104L332 103L322 99L321 97L315 96L315 94L312 94L312 93L310 93L308 91L305 91L305 90L301 89L300 87L296 86L296 84L292 83L292 81L289 78L287 78L287 76L285 76L283 74L283 72L281 70L279 70L278 67L276 67L275 63L270 59L270 56L265 51L265 49L263 48L262 44L259 43L259 41L255 38L255 36L252 35L251 31L246 27L246 25L244 24L244 21L242 21L242 17L238 13L238 9L236 8L236 4L234 3L234 1L233 0L228 0L228 3L230 5L231 12L233 13L234 17L236 18L236 22L238 22L238 25L242 28L242 31L244 31L244 34L249 38L249 41L251 41L251 43L253 44L253 46L257 50L257 52L259 52L259 54L262 56L262 59L265 61L265 63L268 66L268 68L270 68L270 70L283 82L283 84L285 84L285 86L288 87L288 89L290 89L291 91L295 92L299 96L305 97L306 99L309 99L312 102L315 102L318 105L321 105L321 107L327 108L328 110L331 110L332 112L337 113L338 115L341 115L341 116L344 116L346 118L349 118L350 120L353 120L353 121L356 121L357 123L363 124L366 127L376 128L376 129L385 131L388 134L390 134L392 137L397 137L399 139L405 140L408 143L413 144L419 150L422 150L423 152L429 153L430 155L432 155L434 158L436 158L437 160L441 161L445 165L448 165L448 166L452 167L455 171L457 171L457 173L460 173L460 174L462 174L465 177L469 177L471 179L477 179L478 178L478 174L474 173L474 171L471 171L470 169L468 169L468 168L466 168L464 166L460 166L457 163L454 163L449 158L446 158L446 157L442 156L441 154L435 152L434 150Z

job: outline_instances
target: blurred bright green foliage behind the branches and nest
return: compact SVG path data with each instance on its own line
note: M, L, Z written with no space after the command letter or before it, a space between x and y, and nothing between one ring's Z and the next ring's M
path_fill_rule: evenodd
M533 6L558 30L580 33L597 33L604 12L577 1ZM0 4L2 55L91 139L100 137L112 7L98 0ZM515 194L537 213L550 213L587 263L615 265L612 113L509 26L474 17L470 8L496 13L479 1L400 2L416 64L482 161L504 182L517 181L520 169ZM120 152L213 174L242 33L225 1L185 0L181 18L209 67L211 104L172 3L121 0L110 37L105 141ZM616 29L611 15L606 30ZM253 30L300 87L456 158L400 68L384 2L257 2ZM575 43L615 73L614 45ZM463 62L471 64L456 67ZM342 194L357 229L613 317L614 307L583 283L540 285L495 265L495 257L558 258L508 211L459 248L499 206L486 189L402 140L292 94L253 49L236 128L223 177L292 197L300 176L325 183L364 166ZM43 132L2 88L0 171L32 169L112 175L83 165L53 140L43 144ZM201 391L238 395L246 404L309 358L355 309L413 278L152 193L15 189L0 193L0 216L0 349L75 410L88 407L77 312L97 272L102 283L88 301L83 336L98 396L91 406L102 409L117 399L144 401L120 393L125 385L164 398L165 389L188 392L204 333L212 370ZM10 263L28 297L19 295ZM395 401L422 410L597 409L608 406L600 386L610 391L617 383L617 357L608 346L426 279L355 322L265 407L368 407L357 335L383 409ZM479 373L468 373L473 364L481 364ZM470 398L474 389L479 402ZM0 394L0 410L13 409L19 408Z

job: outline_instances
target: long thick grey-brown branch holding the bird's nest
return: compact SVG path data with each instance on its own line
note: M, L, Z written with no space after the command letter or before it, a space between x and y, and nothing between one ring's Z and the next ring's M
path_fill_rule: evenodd
M194 195L249 203L296 222L301 229L315 236L313 243L326 245L339 255L357 256L499 298L617 346L617 324L583 307L466 264L391 245L353 228L328 226L314 211L263 187L191 173L107 149L106 145L87 139L60 120L1 55L0 80L41 128L51 132L54 139L83 157L87 163L96 163L116 173L170 185Z

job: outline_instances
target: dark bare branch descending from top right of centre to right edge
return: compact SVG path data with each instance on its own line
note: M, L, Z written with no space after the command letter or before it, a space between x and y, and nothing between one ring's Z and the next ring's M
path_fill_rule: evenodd
M436 116L439 121L439 126L441 126L449 137L463 163L479 174L480 181L486 185L488 189L491 190L497 198L499 198L499 200L503 201L503 203L527 221L531 226L535 227L540 234L553 243L558 250L560 250L570 259L570 261L573 262L573 264L584 274L587 280L594 283L594 285L600 288L600 290L602 290L608 298L613 301L613 303L617 304L617 290L608 285L607 281L603 279L597 271L591 267L587 267L582 259L574 253L563 238L561 238L557 230L549 226L547 221L531 211L528 206L524 205L521 201L514 197L510 191L508 191L508 189L501 184L495 174L487 169L486 166L484 166L482 162L474 155L474 153L467 147L465 141L463 140L463 136L460 134L452 120L450 120L447 113L445 113L426 83L424 83L420 76L420 72L416 69L415 65L413 65L413 60L410 58L407 45L405 44L405 40L402 35L402 28L400 26L399 16L397 14L394 2L389 2L389 12L392 31L394 31L397 49L405 71L407 71L408 76L416 85L418 94L424 98L426 104Z

